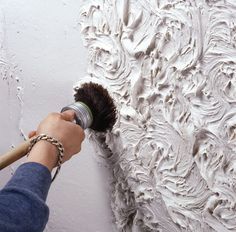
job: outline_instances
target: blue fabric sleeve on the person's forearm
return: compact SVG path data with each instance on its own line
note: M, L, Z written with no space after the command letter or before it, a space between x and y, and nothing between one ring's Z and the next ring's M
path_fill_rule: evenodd
M0 231L40 232L48 221L45 204L51 173L38 163L22 164L0 191Z

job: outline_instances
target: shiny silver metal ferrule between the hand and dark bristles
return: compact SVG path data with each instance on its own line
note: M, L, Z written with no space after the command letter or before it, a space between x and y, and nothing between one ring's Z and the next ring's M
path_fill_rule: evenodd
M75 111L75 121L76 124L80 125L83 129L89 128L93 123L93 115L91 110L83 102L75 102L71 105L63 107L61 112L66 110Z

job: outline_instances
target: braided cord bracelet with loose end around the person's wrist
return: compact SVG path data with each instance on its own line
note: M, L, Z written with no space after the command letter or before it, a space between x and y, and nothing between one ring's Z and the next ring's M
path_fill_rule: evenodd
M51 143L52 145L56 146L57 150L58 150L57 170L52 178L52 182L53 182L61 169L61 164L62 164L62 160L63 160L63 156L64 156L64 148L63 148L63 145L55 138L50 137L45 134L40 134L30 141L30 147L28 150L28 154L31 151L32 147L40 140L44 140L44 141Z

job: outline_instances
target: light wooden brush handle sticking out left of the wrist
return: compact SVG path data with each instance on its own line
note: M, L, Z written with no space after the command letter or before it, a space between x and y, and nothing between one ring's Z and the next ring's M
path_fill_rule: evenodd
M18 147L13 148L3 155L0 155L0 170L25 156L28 152L29 146L30 140L27 140L20 144Z

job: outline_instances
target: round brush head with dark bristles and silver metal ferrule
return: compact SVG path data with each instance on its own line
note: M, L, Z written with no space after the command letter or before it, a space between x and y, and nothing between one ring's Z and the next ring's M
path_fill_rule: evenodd
M101 85L85 83L76 89L75 103L62 109L74 110L76 123L83 129L105 132L116 122L116 107L108 91Z

